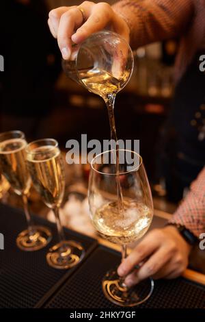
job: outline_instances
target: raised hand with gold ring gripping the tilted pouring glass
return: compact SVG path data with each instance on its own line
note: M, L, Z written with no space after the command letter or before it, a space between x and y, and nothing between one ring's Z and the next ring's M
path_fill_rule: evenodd
M65 60L74 59L77 53L77 49L72 49L73 43L79 45L94 32L105 28L120 34L129 42L126 21L105 2L84 1L79 6L56 8L49 12L48 23Z

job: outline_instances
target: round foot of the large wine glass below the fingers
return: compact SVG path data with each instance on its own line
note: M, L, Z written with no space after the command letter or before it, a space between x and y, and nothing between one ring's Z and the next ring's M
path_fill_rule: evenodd
M148 278L128 288L120 281L117 271L111 270L102 280L102 290L105 297L118 306L137 306L152 295L154 281Z

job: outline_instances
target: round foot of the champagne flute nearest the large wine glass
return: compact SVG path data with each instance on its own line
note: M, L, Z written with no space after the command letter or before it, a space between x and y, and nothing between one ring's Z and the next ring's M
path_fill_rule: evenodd
M81 243L64 240L49 249L46 260L55 269L71 269L83 259L85 250Z

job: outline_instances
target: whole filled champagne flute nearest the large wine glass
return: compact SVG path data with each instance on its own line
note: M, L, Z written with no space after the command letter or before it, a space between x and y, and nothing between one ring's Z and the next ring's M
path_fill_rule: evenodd
M59 207L64 197L65 175L61 152L56 140L45 138L27 145L27 164L33 186L42 200L55 214L59 243L49 249L46 260L55 269L68 269L83 258L81 243L66 240L59 217Z

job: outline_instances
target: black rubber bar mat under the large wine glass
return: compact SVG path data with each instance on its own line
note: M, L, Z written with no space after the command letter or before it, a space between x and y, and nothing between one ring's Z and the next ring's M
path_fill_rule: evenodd
M45 308L120 308L109 302L102 293L101 280L105 273L120 263L120 254L103 246L92 255ZM205 286L180 277L176 280L154 282L150 299L136 308L204 308Z

